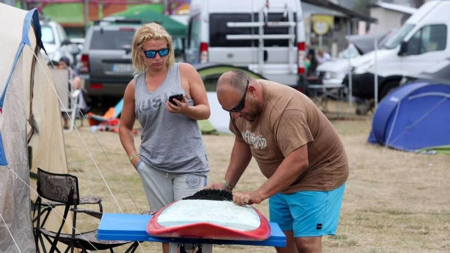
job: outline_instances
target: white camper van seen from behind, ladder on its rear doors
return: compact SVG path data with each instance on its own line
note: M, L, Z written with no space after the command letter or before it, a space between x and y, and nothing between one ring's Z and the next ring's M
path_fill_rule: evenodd
M305 72L299 0L192 0L186 61L243 67L289 86Z

